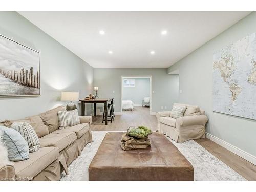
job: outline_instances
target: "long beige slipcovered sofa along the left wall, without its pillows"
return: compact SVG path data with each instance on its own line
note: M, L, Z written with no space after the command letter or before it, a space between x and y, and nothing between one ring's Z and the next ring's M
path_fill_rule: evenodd
M59 130L57 112L62 110L65 107L59 106L25 119L0 123L10 127L14 121L28 122L40 140L39 150L30 153L29 159L13 164L0 163L0 180L57 181L63 170L68 173L69 164L92 142L92 117L79 116L81 124Z

